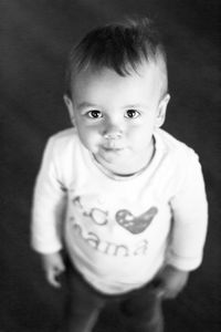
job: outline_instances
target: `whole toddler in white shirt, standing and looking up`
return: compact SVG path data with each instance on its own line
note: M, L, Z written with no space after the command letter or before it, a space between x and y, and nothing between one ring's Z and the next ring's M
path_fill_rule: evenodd
M71 51L73 127L46 144L32 218L48 281L69 277L66 332L92 331L109 302L126 331L162 332L162 299L201 263L204 183L197 154L160 128L169 100L166 52L147 18L95 29Z

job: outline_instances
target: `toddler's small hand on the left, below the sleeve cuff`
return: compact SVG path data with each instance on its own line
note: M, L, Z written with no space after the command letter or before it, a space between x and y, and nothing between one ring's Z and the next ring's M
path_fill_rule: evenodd
M60 288L61 283L57 281L57 277L65 270L61 252L42 255L42 263L49 283Z

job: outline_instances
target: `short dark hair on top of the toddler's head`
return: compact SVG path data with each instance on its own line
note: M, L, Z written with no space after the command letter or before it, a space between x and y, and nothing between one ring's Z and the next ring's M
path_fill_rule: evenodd
M167 77L167 56L154 22L147 18L126 19L88 32L70 52L66 94L71 97L74 75L87 68L108 68L125 76L144 60L162 59ZM166 83L167 90L167 83Z

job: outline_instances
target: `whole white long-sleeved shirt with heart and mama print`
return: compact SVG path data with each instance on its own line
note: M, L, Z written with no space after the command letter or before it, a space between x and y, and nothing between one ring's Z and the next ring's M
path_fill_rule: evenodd
M208 206L196 153L162 129L155 155L130 177L112 176L74 128L52 136L36 179L32 245L65 246L96 289L122 293L150 281L165 263L193 270L202 260Z

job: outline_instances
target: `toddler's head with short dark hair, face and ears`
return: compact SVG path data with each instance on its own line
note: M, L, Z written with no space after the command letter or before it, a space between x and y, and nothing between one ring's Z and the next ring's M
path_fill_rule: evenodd
M144 167L169 101L166 52L154 24L126 20L86 34L71 51L64 100L102 166L118 174Z

